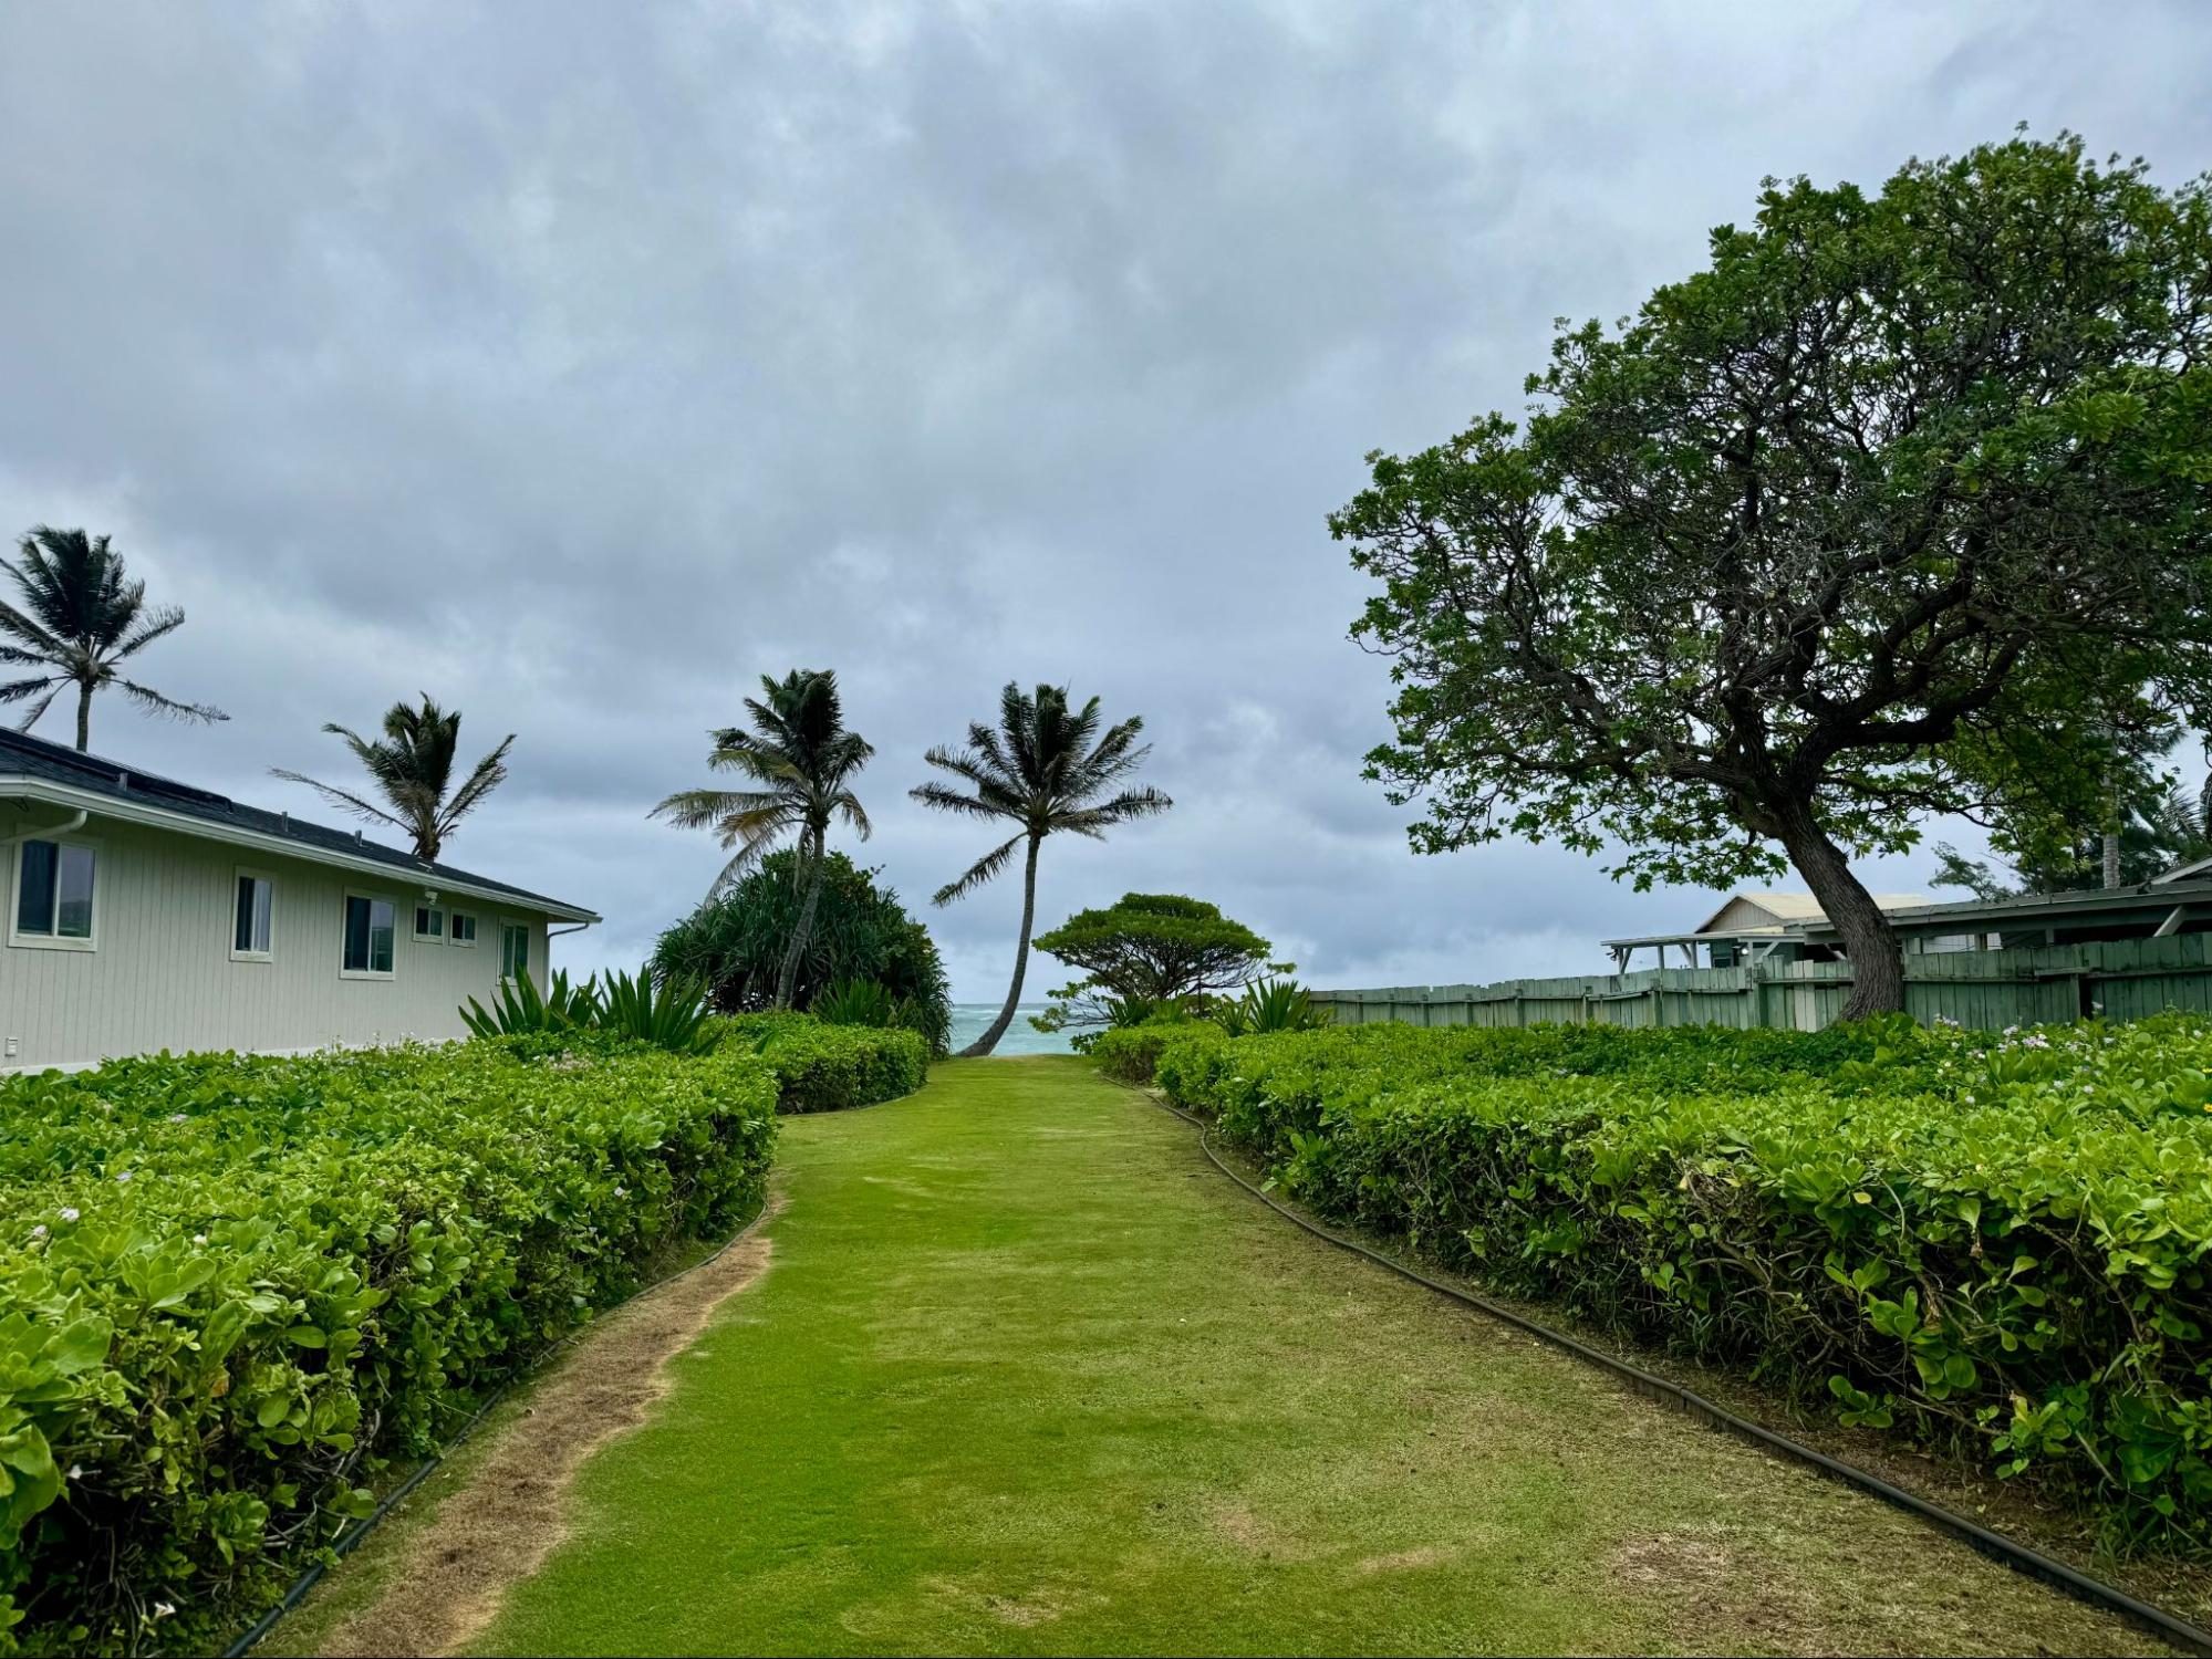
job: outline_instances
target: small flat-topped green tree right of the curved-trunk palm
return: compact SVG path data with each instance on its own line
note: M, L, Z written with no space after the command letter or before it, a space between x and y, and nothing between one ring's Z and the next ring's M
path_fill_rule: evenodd
M1113 1024L1117 1009L1190 1002L1239 991L1267 967L1267 940L1217 905L1181 894L1121 894L1108 909L1075 911L1037 949L1084 978L1053 991L1037 1031Z

